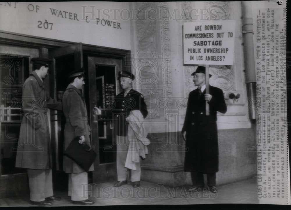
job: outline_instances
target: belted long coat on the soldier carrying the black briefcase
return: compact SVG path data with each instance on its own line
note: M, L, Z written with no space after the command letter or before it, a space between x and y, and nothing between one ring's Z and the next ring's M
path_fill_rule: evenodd
M71 141L78 136L84 136L86 144L91 146L90 131L88 124L88 115L86 103L81 95L81 91L74 85L69 84L63 95L63 112L66 117L64 129L64 151L68 148ZM85 172L76 162L67 156L64 156L63 170L66 173ZM94 166L91 165L89 171L93 171Z

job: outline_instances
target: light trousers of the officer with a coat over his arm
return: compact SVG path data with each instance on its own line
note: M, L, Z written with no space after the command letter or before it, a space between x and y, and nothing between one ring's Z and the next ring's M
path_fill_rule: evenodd
M125 181L127 177L127 168L124 167L127 156L129 141L127 136L116 136L116 168L117 168L117 180ZM141 180L141 164L136 163L136 170L130 170L130 181Z

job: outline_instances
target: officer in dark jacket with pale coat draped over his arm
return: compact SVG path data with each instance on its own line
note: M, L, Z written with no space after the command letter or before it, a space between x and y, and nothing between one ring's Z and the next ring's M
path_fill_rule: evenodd
M125 167L125 160L129 140L127 138L128 122L126 121L126 118L132 110L139 110L142 113L143 118L148 115L143 95L132 89L134 75L128 71L120 71L118 74L120 87L123 91L114 98L114 107L108 114L114 121L114 135L116 135L117 144L116 165L118 181L114 184L115 187L127 184L127 168ZM102 114L99 108L95 107L95 109L97 114ZM140 163L136 163L136 170L131 170L130 178L134 187L140 186L140 178Z

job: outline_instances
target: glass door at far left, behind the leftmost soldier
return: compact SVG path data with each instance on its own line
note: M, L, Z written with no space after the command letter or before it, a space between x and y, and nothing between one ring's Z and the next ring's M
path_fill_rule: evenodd
M21 125L22 86L31 72L35 48L0 46L0 197L28 193L26 169L16 168L15 159Z

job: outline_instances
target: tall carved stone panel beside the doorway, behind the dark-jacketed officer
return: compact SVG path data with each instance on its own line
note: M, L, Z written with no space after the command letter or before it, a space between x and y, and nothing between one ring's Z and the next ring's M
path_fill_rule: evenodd
M149 117L159 118L160 109L155 105L159 97L157 93L159 73L159 62L157 60L157 31L156 20L149 20L149 14L153 11L153 2L137 2L134 7L138 9L136 26L136 57L132 57L132 71L136 75L135 83L145 98L148 106Z

